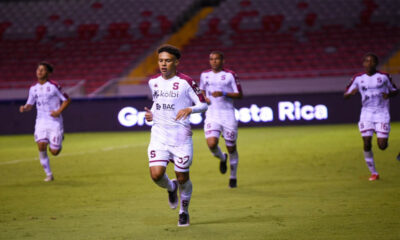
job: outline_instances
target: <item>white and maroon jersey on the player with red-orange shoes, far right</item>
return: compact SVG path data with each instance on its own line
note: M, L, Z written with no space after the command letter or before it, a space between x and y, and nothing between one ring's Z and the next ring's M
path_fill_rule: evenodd
M389 99L384 99L382 94L396 91L389 74L377 72L372 76L366 73L357 74L346 89L346 93L358 89L361 94L360 121L389 122Z

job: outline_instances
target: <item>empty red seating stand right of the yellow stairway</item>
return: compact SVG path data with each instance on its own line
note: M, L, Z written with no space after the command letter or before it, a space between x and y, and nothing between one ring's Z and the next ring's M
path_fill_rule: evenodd
M395 0L232 0L200 24L180 69L198 79L221 50L241 79L343 76L366 52L388 56L400 41Z

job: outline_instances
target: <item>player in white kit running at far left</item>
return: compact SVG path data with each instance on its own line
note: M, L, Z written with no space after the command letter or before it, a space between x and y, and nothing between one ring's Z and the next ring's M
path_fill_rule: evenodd
M68 95L61 91L61 87L49 80L52 72L51 64L47 62L38 64L36 69L38 81L30 87L26 104L19 107L21 113L28 112L36 103L35 141L39 149L40 163L46 173L45 182L54 180L47 156L47 145L50 143L49 150L54 156L61 152L64 135L61 113L71 102Z

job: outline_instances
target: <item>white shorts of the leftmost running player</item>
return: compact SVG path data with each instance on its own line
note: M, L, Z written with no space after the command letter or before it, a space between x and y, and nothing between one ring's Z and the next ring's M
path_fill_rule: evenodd
M50 143L50 148L61 149L64 138L64 130L59 127L38 126L35 127L35 142Z

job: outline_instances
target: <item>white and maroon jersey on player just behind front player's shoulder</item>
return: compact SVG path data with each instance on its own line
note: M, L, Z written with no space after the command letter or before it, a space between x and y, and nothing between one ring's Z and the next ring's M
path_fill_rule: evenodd
M206 118L224 119L226 114L234 116L233 99L225 96L213 97L211 93L215 91L242 92L235 72L227 69L222 69L218 73L214 73L212 70L204 71L200 75L200 89L206 93L211 102L206 112Z

